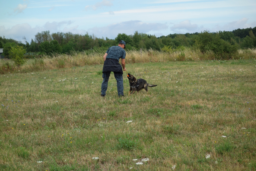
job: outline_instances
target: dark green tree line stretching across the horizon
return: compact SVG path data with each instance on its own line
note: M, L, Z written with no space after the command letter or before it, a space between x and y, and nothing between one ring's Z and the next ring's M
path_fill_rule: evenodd
M37 54L51 55L55 53L72 53L73 51L97 51L107 50L109 47L117 45L120 40L126 42L126 50L154 49L156 51L172 52L181 47L198 48L202 52L213 51L216 55L234 53L239 48L256 47L256 27L236 29L233 31L219 31L186 34L170 34L156 37L138 33L133 35L118 34L115 39L98 38L88 33L73 34L57 32L50 34L50 31L38 32L30 43L23 37L23 42L11 38L0 36L0 48L4 48L4 55L11 58L12 47L20 46L26 52L36 52Z

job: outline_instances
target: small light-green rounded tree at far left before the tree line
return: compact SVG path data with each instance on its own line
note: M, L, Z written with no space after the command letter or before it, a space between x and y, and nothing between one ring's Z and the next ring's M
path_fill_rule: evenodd
M26 53L26 49L22 46L17 45L16 47L11 47L10 56L12 56L12 60L15 65L22 66L26 60L24 59L24 54Z

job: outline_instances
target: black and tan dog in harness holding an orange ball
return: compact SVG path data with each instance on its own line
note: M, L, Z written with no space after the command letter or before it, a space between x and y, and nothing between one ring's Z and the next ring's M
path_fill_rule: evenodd
M146 80L140 78L136 79L132 74L128 73L127 78L129 79L130 91L128 95L135 93L135 91L140 91L141 89L145 89L148 93L148 87L155 87L157 85L148 84Z

